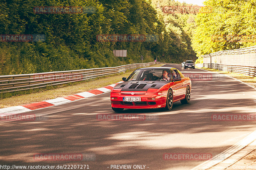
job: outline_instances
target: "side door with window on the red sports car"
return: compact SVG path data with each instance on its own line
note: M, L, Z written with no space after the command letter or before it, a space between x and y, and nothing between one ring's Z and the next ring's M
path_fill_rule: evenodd
M176 77L180 77L180 74L176 69L173 69L172 70L173 80ZM184 95L184 85L183 85L184 83L183 83L183 81L184 81L184 78L182 78L180 81L173 82L173 85L174 85L174 88L175 88L175 91L174 91L174 94L173 94L173 100L178 100L178 99L183 97L183 95Z

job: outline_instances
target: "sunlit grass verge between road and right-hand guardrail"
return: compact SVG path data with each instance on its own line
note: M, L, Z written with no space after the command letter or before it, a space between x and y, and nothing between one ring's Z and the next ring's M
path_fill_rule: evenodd
M256 77L252 77L252 76L246 76L243 74L238 74L238 73L234 73L234 72L226 72L226 71L221 71L221 70L216 70L216 69L209 69L209 68L198 68L198 69L202 69L202 70L208 70L208 71L213 71L219 74L224 74L226 76L232 77L232 78L236 78L237 80L240 80L244 83L248 83L249 85L256 87Z

